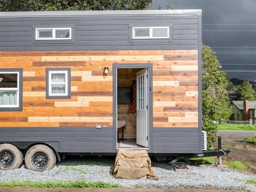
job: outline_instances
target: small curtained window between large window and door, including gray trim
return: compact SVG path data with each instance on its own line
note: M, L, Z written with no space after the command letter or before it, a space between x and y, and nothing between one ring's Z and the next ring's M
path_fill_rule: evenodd
M70 98L70 68L46 69L46 98Z

